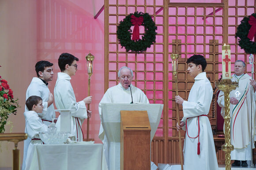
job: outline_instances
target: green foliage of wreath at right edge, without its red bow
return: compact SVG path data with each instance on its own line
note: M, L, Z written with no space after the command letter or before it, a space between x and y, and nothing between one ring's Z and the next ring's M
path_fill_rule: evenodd
M256 18L256 13L252 14ZM237 27L235 37L238 37L238 45L245 50L247 54L256 54L256 43L251 41L247 36L251 25L248 23L250 16L243 18L241 24Z

